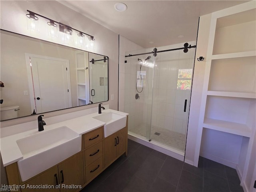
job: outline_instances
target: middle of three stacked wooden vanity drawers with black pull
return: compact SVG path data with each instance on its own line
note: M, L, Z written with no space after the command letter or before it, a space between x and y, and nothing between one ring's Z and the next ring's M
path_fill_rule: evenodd
M90 165L100 156L102 156L102 142L99 142L90 148L85 150L85 164L86 166Z

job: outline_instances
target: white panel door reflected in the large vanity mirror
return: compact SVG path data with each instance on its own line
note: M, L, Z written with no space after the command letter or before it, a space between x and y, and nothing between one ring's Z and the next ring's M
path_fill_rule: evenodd
M69 61L30 55L31 110L36 113L72 107Z

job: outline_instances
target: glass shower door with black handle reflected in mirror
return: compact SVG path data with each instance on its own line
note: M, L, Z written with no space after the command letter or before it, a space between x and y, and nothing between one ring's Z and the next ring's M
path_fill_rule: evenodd
M90 100L93 103L108 100L108 58L90 58L89 67Z

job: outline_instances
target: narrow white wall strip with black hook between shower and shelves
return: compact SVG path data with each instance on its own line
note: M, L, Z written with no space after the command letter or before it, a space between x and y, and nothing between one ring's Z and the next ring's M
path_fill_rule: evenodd
M196 59L194 65L194 76L192 83L192 92L190 100L190 112L188 118L188 134L186 142L185 162L194 164L194 154L196 149L196 136L198 130L198 119L200 114L200 106L202 99L202 88L204 83L204 70L206 64L206 54L208 48L208 38L210 33L211 14L200 17L198 38L196 46ZM204 57L203 61L197 58Z

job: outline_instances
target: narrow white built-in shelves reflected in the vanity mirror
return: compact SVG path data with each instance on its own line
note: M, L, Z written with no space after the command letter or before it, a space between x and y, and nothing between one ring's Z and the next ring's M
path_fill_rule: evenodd
M88 52L76 51L76 79L78 106L89 103Z

